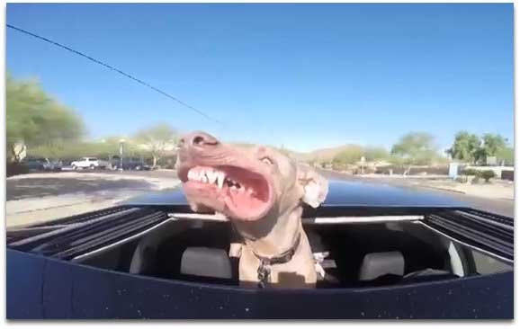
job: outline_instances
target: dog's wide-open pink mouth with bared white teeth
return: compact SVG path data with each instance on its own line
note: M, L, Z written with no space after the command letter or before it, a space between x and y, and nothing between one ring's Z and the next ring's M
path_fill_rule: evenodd
M260 173L231 165L196 165L179 176L188 200L229 218L257 220L272 207L271 184Z

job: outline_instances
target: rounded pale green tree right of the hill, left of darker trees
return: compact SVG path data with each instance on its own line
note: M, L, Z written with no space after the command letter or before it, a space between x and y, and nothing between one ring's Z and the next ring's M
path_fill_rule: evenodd
M392 156L404 157L409 164L429 164L437 157L434 137L426 132L410 132L391 148Z

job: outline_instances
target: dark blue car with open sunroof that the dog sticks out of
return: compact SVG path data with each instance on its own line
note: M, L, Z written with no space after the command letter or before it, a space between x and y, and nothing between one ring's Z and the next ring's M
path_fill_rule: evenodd
M229 220L183 190L7 227L8 319L512 319L514 223L435 192L330 182L315 289L239 284ZM368 274L370 275L368 275ZM22 298L21 298L22 297Z

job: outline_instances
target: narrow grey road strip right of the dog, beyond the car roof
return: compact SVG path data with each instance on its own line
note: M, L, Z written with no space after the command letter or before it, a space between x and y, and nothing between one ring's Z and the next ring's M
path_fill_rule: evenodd
M468 204L469 207L474 209L480 209L484 211L494 212L499 215L507 217L515 217L515 201L514 200L500 200L500 199L488 199L480 198L476 196L466 195L459 192L453 191L441 191L433 190L430 188L421 188L417 185L412 185L407 179L384 179L384 178L367 178L353 175L346 175L344 173L336 173L330 171L320 171L327 179L343 180L343 181L356 181L356 182L370 182L370 183L384 183L399 186L405 189L420 189L423 191L441 193L444 196L453 198L454 200L462 201Z

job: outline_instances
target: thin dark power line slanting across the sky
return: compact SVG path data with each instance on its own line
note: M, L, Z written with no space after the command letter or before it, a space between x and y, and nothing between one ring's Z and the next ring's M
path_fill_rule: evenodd
M82 53L81 51L77 51L77 50L75 50L75 49L72 49L72 48L70 48L70 47L67 47L67 46L65 46L65 45L63 45L63 44L61 44L61 43L56 42L56 41L49 40L49 39L44 38L44 37L42 37L42 36L40 36L40 35L38 35L38 34L32 33L32 32L30 32L30 31L23 30L23 29L21 29L21 28L19 28L19 27L16 27L16 26L11 25L11 24L6 24L6 25L7 25L7 27L10 28L10 29L13 29L13 30L15 30L15 31L19 31L19 32L25 33L25 34L27 34L27 35L30 35L30 36L33 37L33 38L36 38L36 39L40 39L40 40L43 40L43 41L45 41L45 42L49 42L50 44L52 44L52 45L54 45L54 46L57 46L57 47L62 48L62 49L66 49L66 50L68 50L68 51L70 51L70 52L72 52L72 53L74 53L74 54L76 54L76 55L79 55L79 56L81 56L81 57L83 57L83 58L86 58L86 59L88 59L88 60L91 60L91 61L93 61L93 62L96 63L96 64L99 64L99 65L101 65L101 66L103 66L103 67L106 67L106 68L108 68L108 69L111 69L112 71L115 71L115 72L119 73L121 76L126 76L126 77L128 77L129 79L131 79L131 80L133 80L133 81L135 81L135 82L137 82L137 83L139 83L139 84L145 85L145 86L147 86L148 88L152 89L153 91L155 91L155 92L157 92L157 93L160 93L160 94L162 94L163 96L166 96L167 98L169 98L169 99L171 99L171 100L174 100L175 102L180 103L180 104L183 105L184 107L187 107L188 109L190 109L190 110L192 110L192 111L195 111L195 112L199 113L200 115L202 115L204 118L206 118L206 119L208 119L208 120L214 121L214 122L216 122L216 123L218 123L218 124L220 124L220 125L222 125L222 126L224 125L222 122L220 122L219 120L216 120L216 119L214 119L214 118L211 118L209 115L207 115L207 114L204 113L203 111L200 111L200 110L195 109L193 106L191 106L191 105L189 105L189 104L186 104L185 102L179 100L178 98L172 96L171 94L166 93L166 92L160 90L159 88L154 87L153 85L148 84L148 83L142 81L141 79L139 79L139 78L137 78L137 77L135 77L135 76L131 76L131 75L129 75L128 73L125 73L125 72L121 71L119 68L112 67L111 65L108 65L108 64L106 64L106 63L103 63L101 60L97 60L97 59L92 58L92 57L90 57L90 56L88 56L88 55L85 55L85 54Z

